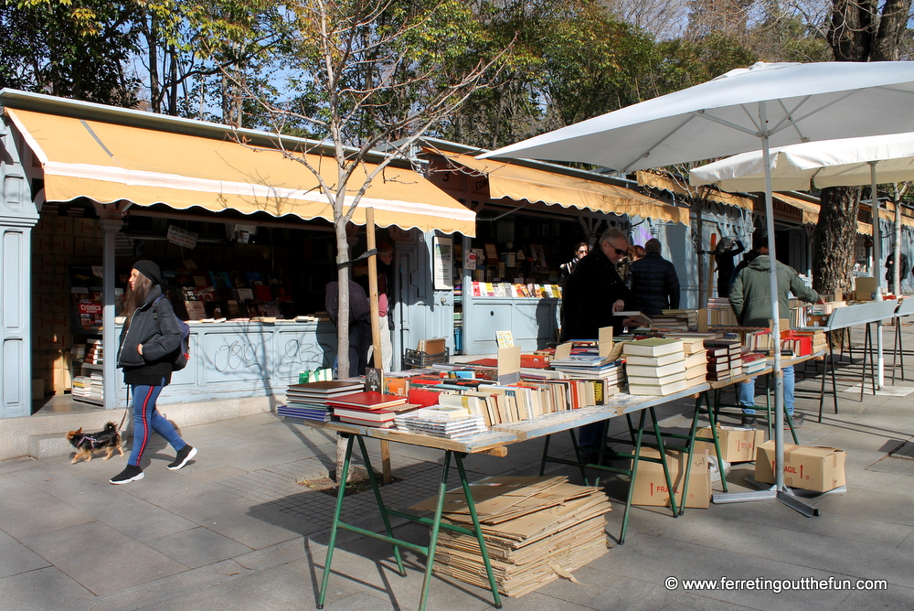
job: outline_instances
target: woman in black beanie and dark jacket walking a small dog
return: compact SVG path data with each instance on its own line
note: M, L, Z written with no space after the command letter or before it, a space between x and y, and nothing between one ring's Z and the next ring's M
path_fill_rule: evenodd
M112 484L129 484L143 479L140 460L149 444L150 429L165 437L177 452L168 465L185 466L197 448L186 444L175 427L155 409L155 401L171 381L175 352L181 349L183 334L171 302L162 295L161 272L152 261L138 261L130 271L117 366L133 393L133 451L127 466L111 478Z

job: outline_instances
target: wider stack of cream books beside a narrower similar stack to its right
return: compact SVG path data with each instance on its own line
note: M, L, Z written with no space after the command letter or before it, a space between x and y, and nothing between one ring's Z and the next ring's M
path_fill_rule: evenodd
M685 391L685 352L678 338L648 338L622 347L629 394L665 396Z

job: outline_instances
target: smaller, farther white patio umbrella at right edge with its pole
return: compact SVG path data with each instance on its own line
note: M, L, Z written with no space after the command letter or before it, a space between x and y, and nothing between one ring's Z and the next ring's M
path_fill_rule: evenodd
M878 183L914 180L914 133L821 140L772 148L768 156L771 188L777 191L870 185L873 198L873 259L881 298L882 252ZM733 155L689 170L693 185L717 183L726 191L762 191L765 156L761 151ZM877 178L878 176L878 178ZM882 323L877 323L877 383L885 386Z

